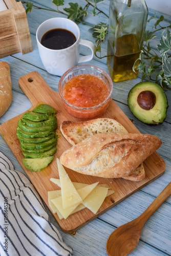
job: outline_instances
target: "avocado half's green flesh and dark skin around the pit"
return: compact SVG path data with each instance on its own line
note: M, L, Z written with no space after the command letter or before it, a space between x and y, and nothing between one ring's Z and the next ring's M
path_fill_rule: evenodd
M150 110L144 110L138 104L138 95L143 91L153 92L156 96L156 103ZM167 97L157 83L144 81L136 84L129 92L127 104L133 115L147 125L160 125L166 118L168 108Z

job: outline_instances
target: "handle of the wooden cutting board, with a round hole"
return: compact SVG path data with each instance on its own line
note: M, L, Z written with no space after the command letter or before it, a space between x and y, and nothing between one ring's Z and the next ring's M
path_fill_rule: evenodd
M51 102L55 94L38 72L30 72L18 80L20 89L24 92L33 106L37 102Z

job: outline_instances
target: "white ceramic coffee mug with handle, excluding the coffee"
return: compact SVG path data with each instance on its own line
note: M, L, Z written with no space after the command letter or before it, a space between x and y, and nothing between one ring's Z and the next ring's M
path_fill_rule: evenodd
M65 49L53 50L41 45L42 36L52 29L66 29L72 32L75 37L75 43ZM94 56L95 46L93 42L80 38L80 30L75 22L68 18L50 18L41 23L36 31L36 40L39 55L45 69L52 75L61 76L77 63L90 61ZM79 56L80 45L87 46L92 53L87 56Z

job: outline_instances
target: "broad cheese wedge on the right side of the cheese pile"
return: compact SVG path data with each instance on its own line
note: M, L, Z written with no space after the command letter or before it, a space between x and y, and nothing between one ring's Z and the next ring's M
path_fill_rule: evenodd
M90 209L94 214L96 214L102 205L107 193L107 187L96 186L92 193L90 193L90 195L83 200L82 204Z

